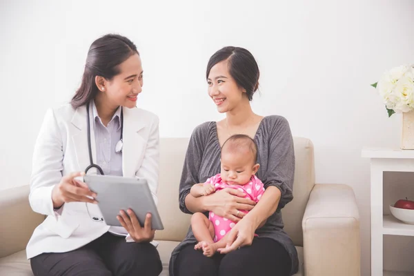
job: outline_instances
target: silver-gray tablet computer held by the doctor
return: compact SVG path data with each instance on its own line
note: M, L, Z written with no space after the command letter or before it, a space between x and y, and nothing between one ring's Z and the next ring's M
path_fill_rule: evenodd
M114 175L85 175L83 179L90 190L97 194L95 199L107 225L121 226L117 215L120 210L126 212L130 208L142 227L146 214L150 213L152 229L164 229L146 179Z

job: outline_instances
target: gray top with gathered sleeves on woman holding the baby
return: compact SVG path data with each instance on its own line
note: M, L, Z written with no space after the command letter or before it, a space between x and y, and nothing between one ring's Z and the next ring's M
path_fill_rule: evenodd
M257 163L260 164L257 177L262 180L265 188L276 186L282 193L277 210L268 217L262 228L256 230L256 233L259 238L274 239L284 245L292 260L290 274L293 275L298 269L297 251L292 240L283 230L284 224L280 212L293 199L295 152L288 121L277 115L264 117L254 139L258 147ZM220 172L220 151L217 124L210 121L197 126L190 138L179 184L179 206L184 213L191 213L185 204L191 186L204 183L206 179ZM175 260L181 248L196 242L190 227L184 241L172 251L170 275L174 276Z

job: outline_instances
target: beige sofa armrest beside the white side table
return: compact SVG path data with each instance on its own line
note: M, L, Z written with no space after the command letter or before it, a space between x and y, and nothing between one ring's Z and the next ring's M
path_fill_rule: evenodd
M360 275L359 212L350 186L316 184L302 228L306 276Z

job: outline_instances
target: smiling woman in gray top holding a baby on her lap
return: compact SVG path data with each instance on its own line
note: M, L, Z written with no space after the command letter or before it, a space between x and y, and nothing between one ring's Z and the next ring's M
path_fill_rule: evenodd
M170 275L292 275L297 272L297 252L283 230L281 213L293 199L295 152L288 121L277 115L262 117L250 107L259 86L259 68L248 50L225 47L215 52L208 61L206 79L208 95L226 118L195 128L181 175L179 206L184 213L212 211L238 222L228 235L228 247L221 250L224 254L211 258L194 249L197 241L190 228L172 252ZM237 133L257 143L257 177L266 188L262 199L255 205L231 188L206 197L190 195L191 186L220 172L221 145Z

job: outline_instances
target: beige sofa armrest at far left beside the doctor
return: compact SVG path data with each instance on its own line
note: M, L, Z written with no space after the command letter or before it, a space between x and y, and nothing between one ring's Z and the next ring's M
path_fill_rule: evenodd
M0 191L0 258L26 248L34 228L45 219L29 204L29 186Z

